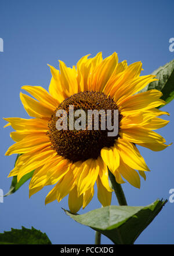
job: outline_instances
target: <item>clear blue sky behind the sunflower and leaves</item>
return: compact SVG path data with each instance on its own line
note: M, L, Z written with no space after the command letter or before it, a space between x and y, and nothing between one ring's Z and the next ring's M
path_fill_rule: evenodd
M50 70L47 64L59 68L58 60L73 66L88 53L103 57L118 53L119 61L128 64L142 61L144 71L150 74L159 66L174 59L169 51L173 34L174 2L168 1L1 1L0 52L1 84L1 172L0 189L8 192L16 156L4 154L13 141L10 128L3 129L2 117L23 117L27 114L19 99L22 85L41 85L48 89ZM163 107L171 113L171 122L159 130L167 143L174 141L174 101ZM147 205L157 198L169 199L174 188L173 145L163 152L151 152L139 147L151 172L141 188L128 183L122 185L129 205ZM92 244L94 231L64 214L67 198L44 205L51 187L28 199L28 182L0 203L0 232L10 228L31 228L45 232L52 243ZM95 196L80 214L100 207ZM117 204L114 198L112 204ZM174 203L167 203L153 223L136 240L136 244L173 244ZM111 243L102 237L102 243Z

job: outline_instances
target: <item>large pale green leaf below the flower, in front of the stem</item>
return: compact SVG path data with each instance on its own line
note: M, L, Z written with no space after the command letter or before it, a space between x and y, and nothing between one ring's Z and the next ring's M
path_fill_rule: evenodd
M115 244L133 244L166 202L156 200L146 207L110 205L81 215L63 210L74 221L97 230Z

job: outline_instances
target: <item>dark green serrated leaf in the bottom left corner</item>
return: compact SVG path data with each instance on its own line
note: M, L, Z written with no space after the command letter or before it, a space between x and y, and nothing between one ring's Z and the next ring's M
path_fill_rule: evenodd
M0 244L51 244L48 236L33 227L0 233Z

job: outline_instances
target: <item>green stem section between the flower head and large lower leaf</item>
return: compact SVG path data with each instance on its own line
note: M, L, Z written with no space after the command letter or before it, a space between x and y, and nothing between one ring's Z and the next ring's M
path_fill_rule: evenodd
M115 180L115 176L112 174L112 172L110 170L108 170L108 175L110 177L110 181L113 185L113 189L115 191L115 194L117 196L117 200L119 205L128 205L126 202L126 198L125 198L125 194L122 190L122 187L119 183L117 183L117 181Z

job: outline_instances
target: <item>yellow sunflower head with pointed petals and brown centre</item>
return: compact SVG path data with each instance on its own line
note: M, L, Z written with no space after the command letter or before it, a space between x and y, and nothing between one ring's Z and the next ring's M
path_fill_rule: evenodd
M150 171L135 145L153 151L165 149L165 139L154 132L169 121L159 118L167 112L157 107L165 104L162 93L152 89L137 93L154 75L140 76L142 62L128 66L118 63L117 53L102 58L102 53L82 57L77 66L67 67L59 62L60 71L50 66L52 79L49 92L41 86L22 87L30 96L20 93L24 109L31 119L4 118L16 131L10 133L14 140L6 152L21 154L9 176L17 182L34 170L29 196L46 185L55 185L46 196L45 204L60 201L68 194L71 212L85 208L92 200L97 183L97 197L103 206L111 204L112 189L108 169L118 183L124 179L140 188L140 176L146 179ZM34 99L35 98L35 99ZM107 136L107 131L87 129L57 130L56 111L75 109L118 110L118 134ZM139 176L140 175L140 176Z

